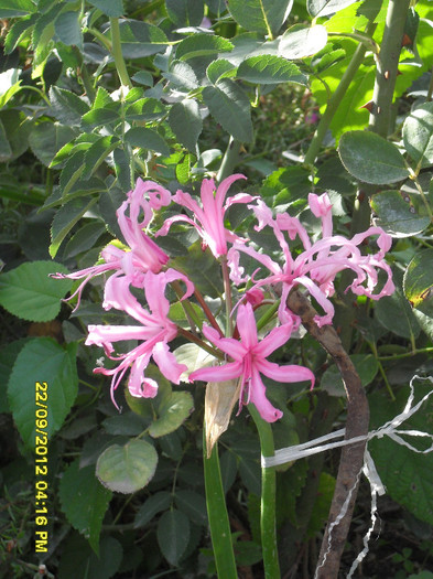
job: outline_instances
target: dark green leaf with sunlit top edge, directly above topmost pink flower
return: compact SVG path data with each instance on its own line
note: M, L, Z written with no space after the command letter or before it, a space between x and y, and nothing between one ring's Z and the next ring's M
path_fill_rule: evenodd
M194 152L203 129L199 107L196 100L175 103L170 109L169 124L176 139Z

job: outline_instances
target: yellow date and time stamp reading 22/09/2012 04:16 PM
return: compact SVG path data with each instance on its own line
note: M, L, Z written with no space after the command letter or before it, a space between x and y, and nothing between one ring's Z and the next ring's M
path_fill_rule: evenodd
M48 550L48 385L46 382L35 383L35 454L34 454L34 514L35 514L35 553Z

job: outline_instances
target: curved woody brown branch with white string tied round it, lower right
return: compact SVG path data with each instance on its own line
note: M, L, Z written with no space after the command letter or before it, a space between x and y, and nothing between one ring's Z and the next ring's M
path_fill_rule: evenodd
M290 293L288 307L301 318L304 328L333 357L342 374L347 395L345 439L366 436L369 425L367 397L355 366L343 347L337 332L332 325L320 328L314 322L314 317L317 315L317 312L310 300L300 291L294 290ZM364 464L365 447L365 442L358 442L343 448L328 522L317 562L315 576L317 579L336 579L338 577L339 561L349 530L358 491L359 473ZM335 522L339 513L342 513L343 505L350 492L351 496L345 515L329 533L329 526Z

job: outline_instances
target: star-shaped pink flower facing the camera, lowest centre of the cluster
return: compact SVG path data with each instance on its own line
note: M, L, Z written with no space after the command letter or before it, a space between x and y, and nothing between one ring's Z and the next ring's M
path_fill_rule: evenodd
M314 386L314 374L303 366L279 366L267 360L267 356L289 340L292 332L291 323L274 328L259 342L252 305L246 303L239 305L237 325L240 341L232 337L220 337L213 328L203 326L203 333L207 340L230 356L234 362L228 362L223 366L197 369L190 374L190 379L226 382L240 378L239 410L243 404L252 403L264 420L274 422L282 417L282 412L268 400L260 374L277 382L310 380L312 387Z

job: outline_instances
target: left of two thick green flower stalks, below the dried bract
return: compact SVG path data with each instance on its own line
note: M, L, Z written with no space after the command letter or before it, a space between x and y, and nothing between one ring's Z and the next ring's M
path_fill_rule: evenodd
M219 470L218 444L215 443L207 458L206 425L203 428L203 463L205 470L206 505L210 538L219 579L237 579L230 524Z

